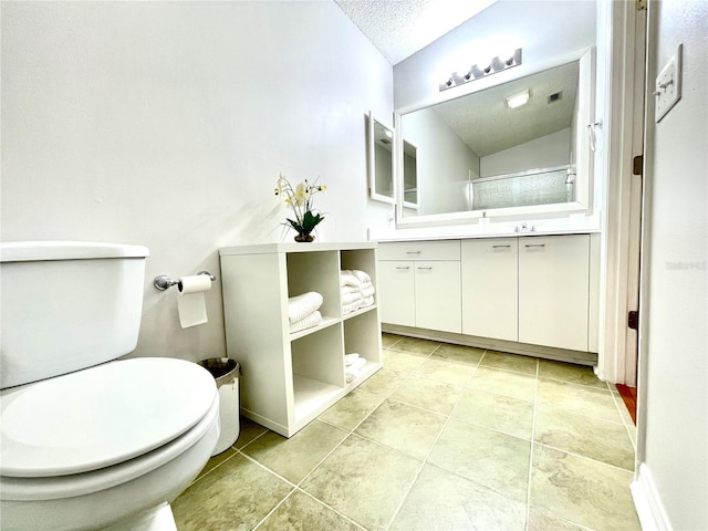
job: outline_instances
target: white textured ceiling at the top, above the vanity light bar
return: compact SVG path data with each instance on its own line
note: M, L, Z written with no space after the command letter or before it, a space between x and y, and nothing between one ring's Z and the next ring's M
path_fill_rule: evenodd
M471 19L496 0L334 0L391 64Z

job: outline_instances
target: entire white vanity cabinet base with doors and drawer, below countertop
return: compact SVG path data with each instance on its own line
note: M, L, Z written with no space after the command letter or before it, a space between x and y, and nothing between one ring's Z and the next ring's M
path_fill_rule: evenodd
M379 244L383 330L594 365L600 233Z

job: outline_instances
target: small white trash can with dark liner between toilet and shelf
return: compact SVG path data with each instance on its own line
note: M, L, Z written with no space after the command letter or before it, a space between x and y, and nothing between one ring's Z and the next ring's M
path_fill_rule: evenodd
M226 451L239 438L239 372L240 365L230 357L210 357L198 362L211 373L219 389L221 435L211 456Z

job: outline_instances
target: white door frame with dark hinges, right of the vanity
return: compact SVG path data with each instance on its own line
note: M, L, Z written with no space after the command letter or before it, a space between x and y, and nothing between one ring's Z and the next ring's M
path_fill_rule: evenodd
M597 375L636 385L637 333L627 314L639 309L642 177L633 159L644 145L646 9L638 1L601 2L598 35L605 35L603 145L598 165L605 171L601 243L604 301L600 315ZM603 153L604 152L604 153ZM604 159L603 159L604 157Z

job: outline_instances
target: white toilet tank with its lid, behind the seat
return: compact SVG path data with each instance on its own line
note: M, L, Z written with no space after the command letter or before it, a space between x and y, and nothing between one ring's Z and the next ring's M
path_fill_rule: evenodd
M135 350L147 256L142 246L0 243L0 387Z

